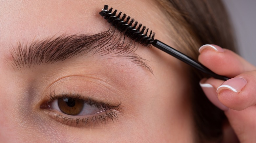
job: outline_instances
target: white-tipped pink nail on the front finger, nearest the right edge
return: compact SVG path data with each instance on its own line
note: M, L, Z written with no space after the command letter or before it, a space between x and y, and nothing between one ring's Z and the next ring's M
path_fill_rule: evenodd
M245 87L246 83L247 81L243 78L231 78L218 87L217 93L219 94L223 89L240 92Z

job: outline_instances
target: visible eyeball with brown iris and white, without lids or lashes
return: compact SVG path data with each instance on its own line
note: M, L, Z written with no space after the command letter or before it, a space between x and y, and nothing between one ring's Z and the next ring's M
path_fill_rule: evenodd
M58 110L67 115L87 116L105 111L104 107L86 103L82 99L63 97L49 103L51 109Z

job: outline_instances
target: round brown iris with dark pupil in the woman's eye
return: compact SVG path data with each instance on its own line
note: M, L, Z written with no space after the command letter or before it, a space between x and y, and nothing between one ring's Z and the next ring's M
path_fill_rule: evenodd
M77 115L82 111L84 101L77 98L64 97L58 99L58 106L59 109L65 114Z

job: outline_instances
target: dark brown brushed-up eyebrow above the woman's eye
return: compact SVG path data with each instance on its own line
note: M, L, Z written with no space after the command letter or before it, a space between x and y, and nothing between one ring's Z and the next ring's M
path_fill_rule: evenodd
M40 64L53 64L74 56L110 55L130 59L132 62L153 73L146 64L146 59L134 52L138 44L116 31L109 29L97 34L61 35L31 44L18 42L11 49L11 65L13 69L30 69Z

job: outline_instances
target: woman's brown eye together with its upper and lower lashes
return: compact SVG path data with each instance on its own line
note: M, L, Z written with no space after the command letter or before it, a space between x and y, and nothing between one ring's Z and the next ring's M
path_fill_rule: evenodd
M77 94L50 94L50 100L40 106L58 122L75 127L88 127L117 121L121 103L113 104L81 97Z

